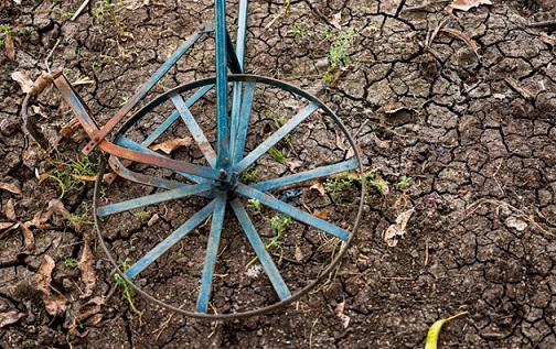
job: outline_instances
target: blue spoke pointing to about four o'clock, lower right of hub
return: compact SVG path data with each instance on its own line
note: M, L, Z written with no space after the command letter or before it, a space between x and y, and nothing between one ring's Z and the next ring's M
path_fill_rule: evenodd
M285 215L290 216L291 218L299 220L303 223L310 225L317 229L320 229L322 231L325 231L330 235L333 235L336 238L340 238L344 241L348 241L348 239L351 236L351 232L342 229L340 227L336 227L323 219L320 219L313 215L309 215L307 212L303 212L302 210L288 205L284 201L280 201L279 199L276 199L271 197L270 195L266 195L263 192L259 192L257 189L254 189L252 187L248 187L244 184L239 184L236 190L238 194L254 198L260 201L260 204L268 206L270 208L274 208Z

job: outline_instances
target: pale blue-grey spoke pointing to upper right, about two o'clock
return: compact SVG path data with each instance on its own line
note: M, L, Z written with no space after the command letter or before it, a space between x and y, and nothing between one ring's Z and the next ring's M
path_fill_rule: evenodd
M234 171L242 173L245 168L249 167L257 159L263 156L270 148L278 143L282 138L285 138L291 130L293 130L298 124L300 124L304 119L307 119L314 110L319 109L317 102L311 102L309 106L299 111L293 118L288 120L281 128L279 128L272 135L270 135L266 141L260 143L254 151L252 151L247 156L245 156L236 166Z

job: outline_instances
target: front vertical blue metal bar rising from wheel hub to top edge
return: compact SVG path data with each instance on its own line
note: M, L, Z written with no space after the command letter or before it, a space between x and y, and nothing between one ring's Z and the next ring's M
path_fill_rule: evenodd
M216 29L216 168L222 170L222 179L229 178L229 121L227 103L227 52L226 52L226 1L214 1Z

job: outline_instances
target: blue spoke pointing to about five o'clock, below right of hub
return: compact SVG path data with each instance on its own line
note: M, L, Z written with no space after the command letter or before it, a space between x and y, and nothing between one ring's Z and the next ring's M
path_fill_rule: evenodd
M265 272L268 275L268 277L270 279L270 283L276 290L278 296L282 301L291 297L291 293L288 290L288 286L284 282L280 272L272 262L270 254L265 248L263 240L260 240L260 237L257 233L255 227L253 226L253 222L250 221L249 216L245 211L245 208L243 207L242 203L239 201L238 198L236 198L233 201L231 201L229 205L232 206L232 209L234 210L237 220L242 225L242 228L245 231L247 239L249 239L249 242L253 249L255 250L255 253L257 253L260 264L265 269Z

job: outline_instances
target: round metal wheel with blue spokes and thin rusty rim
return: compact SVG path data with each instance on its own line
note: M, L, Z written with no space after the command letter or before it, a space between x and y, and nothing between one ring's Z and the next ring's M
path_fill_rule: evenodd
M215 79L203 79L153 99L114 142L206 168L225 152L231 173L214 181L111 156L130 181L105 189L105 161L95 187L98 237L117 272L151 302L197 318L299 299L335 270L363 207L360 154L332 110L275 79L227 80L226 116L216 114ZM222 118L229 139L216 149Z

